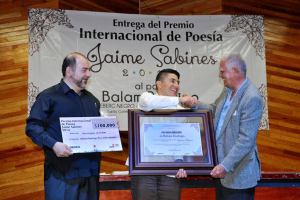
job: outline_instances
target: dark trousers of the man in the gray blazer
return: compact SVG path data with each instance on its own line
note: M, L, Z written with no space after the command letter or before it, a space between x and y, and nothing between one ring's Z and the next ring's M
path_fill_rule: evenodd
M253 200L255 187L246 189L231 189L224 187L219 178L215 179L216 200Z

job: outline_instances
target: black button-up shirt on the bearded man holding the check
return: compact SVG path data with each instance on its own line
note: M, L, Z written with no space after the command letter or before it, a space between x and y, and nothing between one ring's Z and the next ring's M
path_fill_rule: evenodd
M61 79L40 92L26 119L26 135L44 149L44 178L52 173L58 179L99 175L100 152L74 153L57 157L53 145L62 142L59 117L100 116L99 100L83 89L78 95Z

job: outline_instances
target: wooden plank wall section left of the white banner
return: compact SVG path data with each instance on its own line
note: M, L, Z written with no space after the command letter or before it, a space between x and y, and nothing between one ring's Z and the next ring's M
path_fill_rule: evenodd
M27 117L27 8L58 0L0 1L0 199L43 199L43 150L24 133Z

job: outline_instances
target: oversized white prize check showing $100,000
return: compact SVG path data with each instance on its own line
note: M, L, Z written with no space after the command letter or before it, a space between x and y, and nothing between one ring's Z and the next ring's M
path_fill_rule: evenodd
M73 153L122 150L115 116L59 117L63 143Z

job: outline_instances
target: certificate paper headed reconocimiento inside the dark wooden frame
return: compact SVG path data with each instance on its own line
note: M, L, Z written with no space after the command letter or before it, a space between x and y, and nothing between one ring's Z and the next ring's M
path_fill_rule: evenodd
M203 155L199 123L143 123L144 155Z

